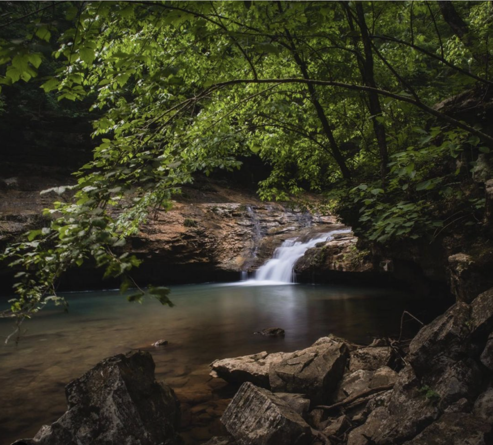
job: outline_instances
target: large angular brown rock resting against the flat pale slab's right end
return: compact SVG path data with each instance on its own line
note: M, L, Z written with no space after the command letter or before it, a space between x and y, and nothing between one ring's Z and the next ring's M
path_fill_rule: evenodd
M322 344L286 354L269 370L274 392L306 394L313 403L324 403L343 376L348 359L344 343Z

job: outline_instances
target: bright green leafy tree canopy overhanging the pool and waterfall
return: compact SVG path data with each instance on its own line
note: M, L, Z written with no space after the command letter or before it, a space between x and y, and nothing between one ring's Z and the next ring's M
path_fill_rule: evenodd
M18 314L88 258L127 277L139 261L125 238L148 212L240 157L271 166L263 199L330 190L379 242L433 237L457 205L478 219L463 184L493 138L433 106L491 84L488 2L454 2L468 40L437 2L23 3L30 12L9 9L0 25L0 84L89 101L102 143L46 211L51 226L6 252L22 268Z

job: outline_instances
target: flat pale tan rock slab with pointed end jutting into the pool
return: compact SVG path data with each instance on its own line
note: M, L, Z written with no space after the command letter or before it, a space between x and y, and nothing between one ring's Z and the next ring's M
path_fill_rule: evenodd
M285 355L284 352L267 354L264 351L259 354L215 360L210 364L212 368L210 375L230 383L251 382L269 389L270 365L280 362Z

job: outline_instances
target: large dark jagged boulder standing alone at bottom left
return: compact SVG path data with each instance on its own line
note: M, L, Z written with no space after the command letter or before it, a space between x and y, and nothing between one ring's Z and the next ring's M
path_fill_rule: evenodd
M174 445L179 402L159 384L148 352L118 354L69 383L67 412L43 426L28 445ZM14 443L20 443L14 442Z

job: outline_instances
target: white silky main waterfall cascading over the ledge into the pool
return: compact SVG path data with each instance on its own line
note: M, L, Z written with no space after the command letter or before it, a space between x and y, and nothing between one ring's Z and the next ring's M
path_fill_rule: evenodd
M332 230L328 233L320 233L306 242L286 239L280 247L275 249L273 257L257 269L255 281L294 283L294 265L308 249L315 247L318 243L330 241L336 233L349 232L351 229Z

